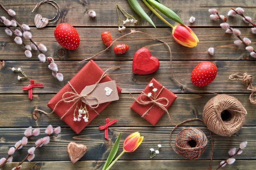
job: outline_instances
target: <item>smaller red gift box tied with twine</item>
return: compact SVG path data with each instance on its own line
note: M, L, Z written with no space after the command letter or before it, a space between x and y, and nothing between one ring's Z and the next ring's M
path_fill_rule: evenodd
M166 112L164 109L168 109L176 98L177 95L170 92L153 78L130 108L155 126ZM158 104L154 104L153 100Z

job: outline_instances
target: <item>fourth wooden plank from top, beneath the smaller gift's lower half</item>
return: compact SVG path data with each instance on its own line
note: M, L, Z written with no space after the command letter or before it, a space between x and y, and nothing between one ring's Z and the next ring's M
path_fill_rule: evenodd
M54 95L34 95L33 100L30 101L27 95L0 95L0 127L47 127L48 124L52 126L68 127L64 121L55 115L41 115L33 112L35 108L42 109L46 112L51 112L51 109L47 107L48 101ZM138 95L134 95L137 97ZM178 94L178 98L168 109L171 118L172 126L191 118L202 118L202 112L204 105L214 95L192 95L192 94ZM232 95L244 105L247 109L247 118L245 126L255 126L256 122L256 111L255 106L250 104L247 94L243 95ZM140 116L130 109L133 99L130 95L120 95L119 101L112 102L103 112L97 116L88 127L98 127L99 125L105 124L105 119L110 120L117 119L118 121L112 125L112 127L122 126L151 126L148 121L140 118ZM14 109L18 108L17 114L14 114ZM195 114L198 114L196 116ZM184 126L204 126L199 121L188 122ZM169 123L167 114L158 121L156 126L171 126ZM86 131L87 128L84 129Z

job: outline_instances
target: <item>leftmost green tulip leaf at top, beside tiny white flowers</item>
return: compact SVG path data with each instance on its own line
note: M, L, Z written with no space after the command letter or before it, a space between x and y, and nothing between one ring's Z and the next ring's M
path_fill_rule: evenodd
M127 0L128 3L131 6L131 9L134 10L134 12L136 12L140 17L142 17L143 19L145 19L146 21L148 21L148 23L150 23L152 26L154 26L154 28L156 28L156 26L154 25L153 21L151 20L150 17L148 17L148 15L145 13L145 11L143 10L143 8L140 6L140 4L138 3L137 0Z

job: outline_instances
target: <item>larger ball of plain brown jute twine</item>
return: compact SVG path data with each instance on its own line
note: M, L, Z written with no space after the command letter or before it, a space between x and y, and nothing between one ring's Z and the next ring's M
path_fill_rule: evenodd
M225 115L225 119L221 116ZM247 111L242 104L229 95L216 95L204 106L203 120L209 130L231 136L244 125Z

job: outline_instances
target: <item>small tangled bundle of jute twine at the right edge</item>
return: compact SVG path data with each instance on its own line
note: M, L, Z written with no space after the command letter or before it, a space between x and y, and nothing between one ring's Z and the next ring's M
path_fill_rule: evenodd
M233 75L230 75L230 80L241 80L245 86L247 86L247 90L252 91L250 94L250 102L252 104L256 104L256 88L253 87L253 76L248 75L246 72L243 74L241 72L237 72Z

